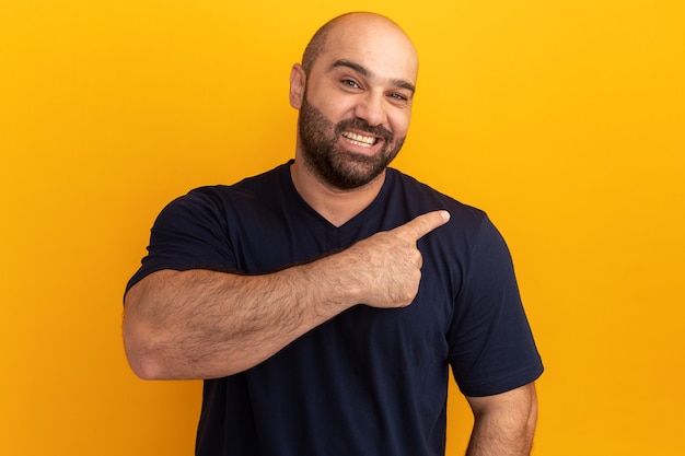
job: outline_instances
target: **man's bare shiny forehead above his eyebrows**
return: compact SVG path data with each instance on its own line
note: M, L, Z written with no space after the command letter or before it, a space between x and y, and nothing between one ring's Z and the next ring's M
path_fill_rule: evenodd
M353 61L380 79L416 84L416 49L399 27L384 20L348 20L332 27L314 68L326 71L340 60Z

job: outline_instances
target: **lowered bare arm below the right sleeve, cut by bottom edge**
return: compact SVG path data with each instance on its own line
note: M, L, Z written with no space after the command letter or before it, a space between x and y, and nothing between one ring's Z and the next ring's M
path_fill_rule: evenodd
M466 456L527 456L537 421L535 384L494 396L466 397L474 430Z

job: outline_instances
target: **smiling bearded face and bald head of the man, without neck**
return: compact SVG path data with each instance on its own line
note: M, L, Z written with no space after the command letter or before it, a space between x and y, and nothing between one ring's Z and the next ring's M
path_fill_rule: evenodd
M306 55L305 55L306 57ZM309 74L293 67L298 156L325 185L349 190L379 178L409 127L417 57L407 36L373 14L338 17Z

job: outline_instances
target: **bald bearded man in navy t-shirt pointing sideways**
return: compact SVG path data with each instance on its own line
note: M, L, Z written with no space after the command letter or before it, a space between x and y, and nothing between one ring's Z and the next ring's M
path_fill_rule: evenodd
M294 161L158 218L125 346L143 378L205 378L198 455L442 455L450 365L468 454L530 453L543 367L507 247L387 167L417 68L390 20L334 19L291 71Z

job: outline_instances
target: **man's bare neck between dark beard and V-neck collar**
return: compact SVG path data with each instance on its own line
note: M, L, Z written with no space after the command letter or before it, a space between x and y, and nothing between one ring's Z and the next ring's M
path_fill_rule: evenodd
M334 226L342 226L371 204L385 182L383 172L363 187L340 190L321 182L304 165L302 159L295 160L290 166L290 175L302 199Z

